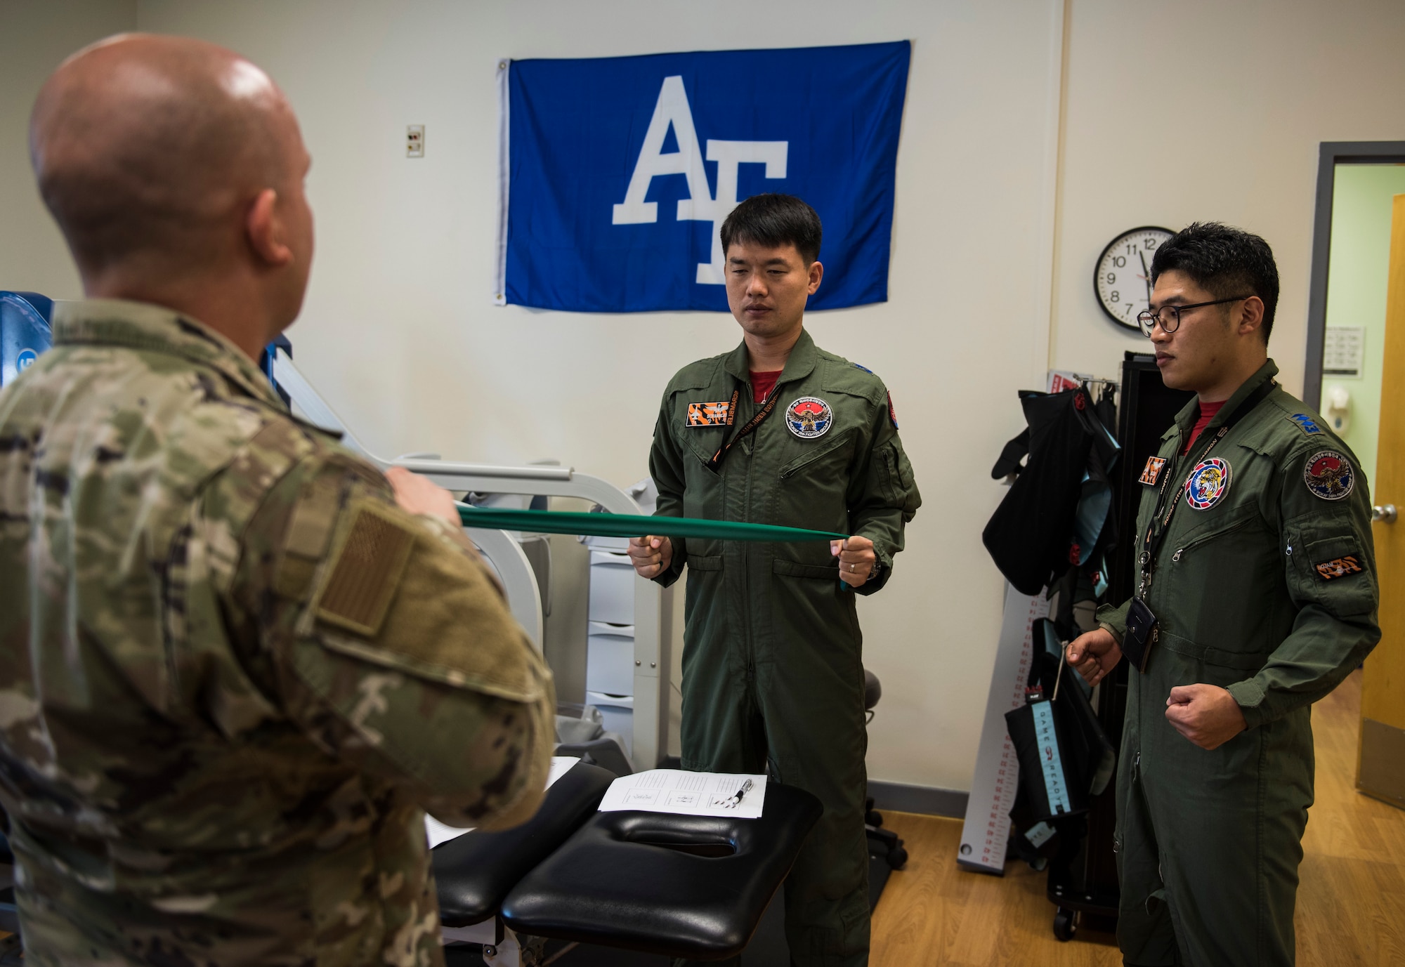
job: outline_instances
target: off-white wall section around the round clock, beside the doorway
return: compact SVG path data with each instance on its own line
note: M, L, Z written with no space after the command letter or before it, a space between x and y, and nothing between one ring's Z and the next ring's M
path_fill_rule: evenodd
M1300 394L1318 145L1405 138L1405 3L1069 3L1054 363L1116 375L1145 351L1093 297L1107 242L1213 219L1273 246L1269 354Z

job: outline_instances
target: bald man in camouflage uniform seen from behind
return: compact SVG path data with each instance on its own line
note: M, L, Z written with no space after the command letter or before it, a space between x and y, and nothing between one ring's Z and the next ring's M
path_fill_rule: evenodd
M24 963L436 967L424 811L541 801L551 675L452 499L254 364L312 260L281 91L126 35L44 86L87 301L0 392L0 803Z

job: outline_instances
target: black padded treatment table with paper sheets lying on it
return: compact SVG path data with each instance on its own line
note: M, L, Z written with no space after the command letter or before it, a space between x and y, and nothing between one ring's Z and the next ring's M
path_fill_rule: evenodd
M516 935L721 960L746 947L819 821L809 793L766 784L759 819L597 812L614 774L576 763L516 829L431 853L445 942L516 967Z

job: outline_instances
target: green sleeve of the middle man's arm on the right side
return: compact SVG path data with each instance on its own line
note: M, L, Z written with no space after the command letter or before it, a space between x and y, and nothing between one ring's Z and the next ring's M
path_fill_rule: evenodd
M912 462L902 448L891 406L892 396L888 396L874 409L868 448L857 454L858 464L850 472L844 498L850 531L874 543L874 554L882 565L877 580L856 589L860 595L873 595L888 583L892 559L903 548L903 528L922 506Z

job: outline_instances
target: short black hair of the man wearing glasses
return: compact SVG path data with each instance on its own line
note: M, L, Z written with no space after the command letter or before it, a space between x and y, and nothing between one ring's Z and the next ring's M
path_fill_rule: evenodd
M1257 295L1263 299L1263 342L1269 342L1279 306L1279 266L1273 249L1257 235L1220 222L1191 222L1156 249L1152 285L1168 271L1186 273L1217 299Z

